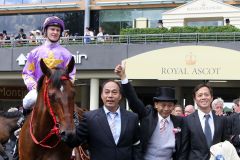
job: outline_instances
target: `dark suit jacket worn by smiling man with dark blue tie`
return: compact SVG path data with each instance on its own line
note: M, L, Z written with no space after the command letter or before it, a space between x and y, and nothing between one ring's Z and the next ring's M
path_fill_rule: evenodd
M213 114L214 135L212 145L223 142L227 138L226 118ZM210 148L203 132L198 111L184 118L182 131L181 160L209 160Z

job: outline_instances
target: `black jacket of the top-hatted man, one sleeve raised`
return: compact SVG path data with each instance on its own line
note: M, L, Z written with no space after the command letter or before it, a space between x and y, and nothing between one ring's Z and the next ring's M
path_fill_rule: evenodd
M141 144L142 144L142 153L144 154L148 147L148 142L157 126L158 123L158 112L154 109L153 106L148 105L145 107L143 102L138 98L133 86L130 83L122 84L123 94L128 99L129 107L131 110L138 114L140 119L140 129L141 129ZM182 128L183 118L170 115L170 119L173 122L174 128ZM175 149L176 152L173 155L173 159L178 159L180 145L181 145L181 132L175 134L176 143Z

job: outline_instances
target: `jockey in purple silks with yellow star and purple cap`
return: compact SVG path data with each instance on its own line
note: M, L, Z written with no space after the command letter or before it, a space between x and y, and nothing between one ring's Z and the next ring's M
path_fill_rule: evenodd
M23 125L25 117L31 113L37 99L37 81L43 74L40 68L40 60L43 59L48 68L66 68L72 58L72 54L58 43L64 29L64 22L60 18L56 16L46 18L43 23L46 41L43 45L33 49L27 56L22 77L29 92L23 99L24 116L18 121L19 127ZM74 67L69 75L72 82L75 80L75 74L76 68ZM14 157L18 157L18 149L16 149Z

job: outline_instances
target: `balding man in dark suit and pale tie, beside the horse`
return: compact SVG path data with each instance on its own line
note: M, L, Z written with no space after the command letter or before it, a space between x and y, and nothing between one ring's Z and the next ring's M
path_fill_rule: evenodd
M105 82L101 98L104 106L85 112L76 135L63 141L70 147L87 142L91 160L140 160L138 116L119 106L120 84Z

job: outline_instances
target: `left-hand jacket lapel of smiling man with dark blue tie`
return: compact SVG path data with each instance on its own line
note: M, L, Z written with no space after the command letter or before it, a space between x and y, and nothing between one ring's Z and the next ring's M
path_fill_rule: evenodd
M195 126L195 129L196 129L196 133L194 133L194 134L199 135L199 142L203 143L206 147L208 147L207 140L206 140L199 116L198 116L198 111L195 111L193 113L193 124L192 125L193 125L193 127Z

